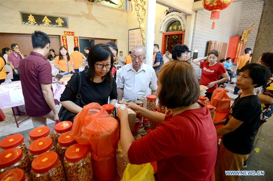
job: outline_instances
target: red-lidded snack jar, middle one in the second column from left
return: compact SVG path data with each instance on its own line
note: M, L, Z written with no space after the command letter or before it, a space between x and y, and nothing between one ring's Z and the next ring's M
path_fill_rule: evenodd
M46 151L55 151L56 147L49 137L39 138L29 145L29 160L32 162L39 154Z

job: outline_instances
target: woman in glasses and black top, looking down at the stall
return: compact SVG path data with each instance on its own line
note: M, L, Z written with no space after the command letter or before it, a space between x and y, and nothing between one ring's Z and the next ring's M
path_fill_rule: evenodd
M110 104L114 105L118 97L117 84L111 73L114 63L111 50L104 44L97 44L91 48L87 60L89 69L75 73L60 98L60 103L74 113L82 110L82 107L74 103L80 79L82 105L91 102L97 102L100 105L108 104L109 96Z

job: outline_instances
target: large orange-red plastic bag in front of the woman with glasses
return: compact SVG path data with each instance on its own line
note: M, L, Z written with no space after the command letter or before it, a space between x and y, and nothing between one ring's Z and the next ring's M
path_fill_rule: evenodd
M79 144L90 144L92 158L115 156L118 145L119 125L98 103L90 103L73 121L73 137Z

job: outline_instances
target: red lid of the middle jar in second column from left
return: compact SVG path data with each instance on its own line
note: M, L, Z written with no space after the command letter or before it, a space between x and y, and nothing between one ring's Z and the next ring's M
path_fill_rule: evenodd
M33 141L29 145L29 151L32 154L38 155L46 152L49 150L53 145L52 139L49 137L42 137L39 138L38 140Z

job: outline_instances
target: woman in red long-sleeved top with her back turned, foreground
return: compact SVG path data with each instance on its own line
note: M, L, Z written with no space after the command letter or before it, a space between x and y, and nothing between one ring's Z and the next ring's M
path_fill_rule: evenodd
M157 84L158 99L172 108L172 114L127 105L157 124L147 135L135 140L127 110L118 108L125 161L157 161L158 180L211 180L217 156L216 130L208 108L197 102L200 88L195 70L186 61L167 62L160 69Z

